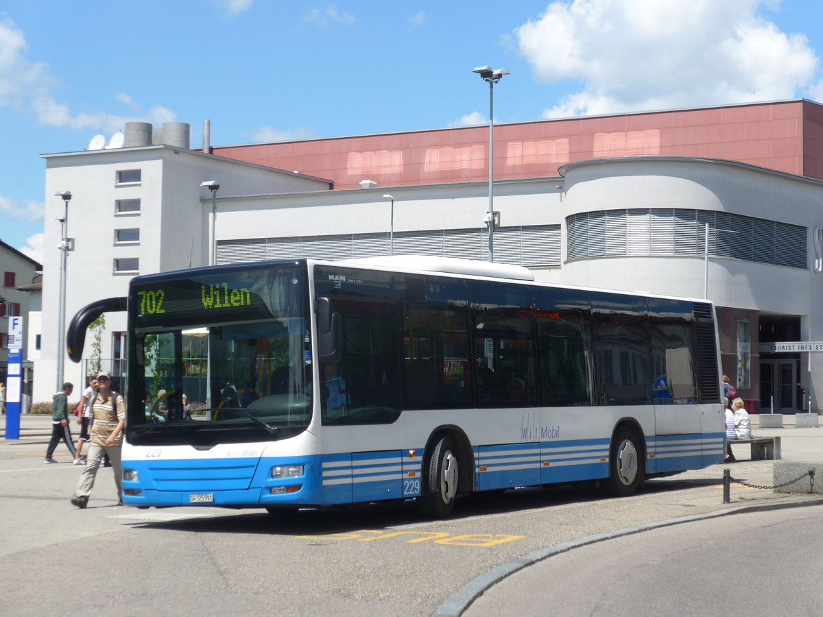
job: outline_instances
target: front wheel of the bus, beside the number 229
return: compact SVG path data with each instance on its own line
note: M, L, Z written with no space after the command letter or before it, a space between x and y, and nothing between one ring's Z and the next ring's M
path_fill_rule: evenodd
M449 435L438 438L431 448L423 470L423 490L417 508L427 518L447 518L454 510L458 495L460 465Z

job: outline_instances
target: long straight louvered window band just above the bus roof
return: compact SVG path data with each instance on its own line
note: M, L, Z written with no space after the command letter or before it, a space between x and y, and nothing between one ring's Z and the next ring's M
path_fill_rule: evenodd
M488 230L430 230L394 233L395 255L435 255L486 260ZM495 262L527 267L560 267L560 225L498 227ZM388 233L221 240L216 262L267 259L351 259L388 255Z

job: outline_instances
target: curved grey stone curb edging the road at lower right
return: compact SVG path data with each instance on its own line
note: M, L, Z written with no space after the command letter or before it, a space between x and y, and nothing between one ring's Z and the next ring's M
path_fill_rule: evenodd
M581 546L588 546L602 542L604 540L612 540L622 536L631 536L643 531L652 529L659 529L661 527L672 527L673 525L681 525L686 522L704 521L709 518L718 518L728 516L729 514L743 514L755 512L757 510L782 510L784 508L802 508L806 506L816 506L823 504L823 497L816 499L806 499L803 501L793 501L790 503L764 503L763 505L745 505L737 508L727 508L710 512L705 514L695 514L690 517L670 518L667 521L649 522L644 525L637 525L635 527L624 527L616 531L605 531L593 536L585 536L577 540L567 540L556 545L547 546L545 549L535 550L532 553L525 554L518 559L512 559L506 564L500 564L496 568L492 568L486 573L472 578L458 591L455 591L451 596L446 598L443 604L432 614L433 617L459 617L463 612L472 605L472 602L482 596L488 589L495 586L504 578L519 572L523 568L528 568L530 565L537 564L543 559L548 559L556 554L566 553L570 550L577 549Z

